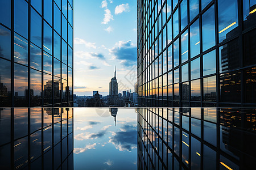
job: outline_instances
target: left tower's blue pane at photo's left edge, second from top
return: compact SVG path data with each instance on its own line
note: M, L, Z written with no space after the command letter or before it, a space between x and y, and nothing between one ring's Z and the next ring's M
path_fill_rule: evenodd
M0 57L11 59L11 31L2 25L0 25Z

